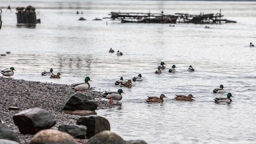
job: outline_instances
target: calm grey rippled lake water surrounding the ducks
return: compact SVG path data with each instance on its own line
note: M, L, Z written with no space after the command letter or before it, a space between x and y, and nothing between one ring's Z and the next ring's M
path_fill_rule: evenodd
M89 76L98 90L118 90L114 82L142 74L142 82L123 88L126 94L117 107L97 110L111 130L125 140L143 139L150 144L255 143L256 141L256 2L203 1L63 1L1 0L0 7L32 5L41 24L35 29L16 27L14 13L2 13L0 69L13 66L13 78L72 84ZM161 12L166 14L217 13L238 23L121 24L92 21L111 11ZM76 11L83 14L76 14ZM80 17L87 21L78 21ZM123 56L108 53L112 47ZM160 62L167 69L154 74ZM177 72L168 73L175 64ZM186 71L192 65L195 72ZM61 79L42 77L54 69ZM225 94L212 90L225 86ZM231 104L215 104L215 97L234 95ZM168 98L146 103L147 96ZM193 102L171 100L174 94L193 94Z

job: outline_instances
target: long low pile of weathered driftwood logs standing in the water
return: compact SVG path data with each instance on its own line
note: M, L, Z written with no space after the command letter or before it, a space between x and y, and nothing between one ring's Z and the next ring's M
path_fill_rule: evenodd
M221 22L236 22L227 19L222 19L221 10L216 14L203 14L190 15L175 13L175 15L166 15L155 13L121 13L111 12L111 19L121 20L122 23L126 22L138 22L138 23L194 23L194 24L221 24Z

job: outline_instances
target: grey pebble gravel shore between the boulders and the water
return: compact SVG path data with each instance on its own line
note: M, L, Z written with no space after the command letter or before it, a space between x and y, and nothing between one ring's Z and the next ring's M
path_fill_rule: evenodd
M62 124L74 125L77 118L80 117L66 114L68 111L62 110L62 104L66 98L75 93L69 85L0 78L0 87L0 112L4 114L6 125L18 134L20 141L24 144L29 142L33 135L20 134L18 127L13 122L12 116L21 110L35 107L45 109L53 114L57 120L53 128L58 128ZM92 99L97 101L98 109L114 107L109 102L102 101L101 92L94 91L93 88L85 93L90 94ZM8 110L11 106L20 107L20 110ZM77 143L85 141L76 139Z

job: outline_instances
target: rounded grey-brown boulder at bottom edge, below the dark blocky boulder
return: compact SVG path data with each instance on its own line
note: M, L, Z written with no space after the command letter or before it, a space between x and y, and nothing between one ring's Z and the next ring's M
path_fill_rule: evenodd
M89 139L86 144L126 144L126 142L117 134L109 130L102 131Z

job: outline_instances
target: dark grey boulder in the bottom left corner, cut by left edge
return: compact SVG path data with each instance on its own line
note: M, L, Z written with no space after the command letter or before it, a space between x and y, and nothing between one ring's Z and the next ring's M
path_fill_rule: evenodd
M0 139L7 139L11 141L20 142L18 135L14 131L12 131L8 126L2 123L0 123Z

